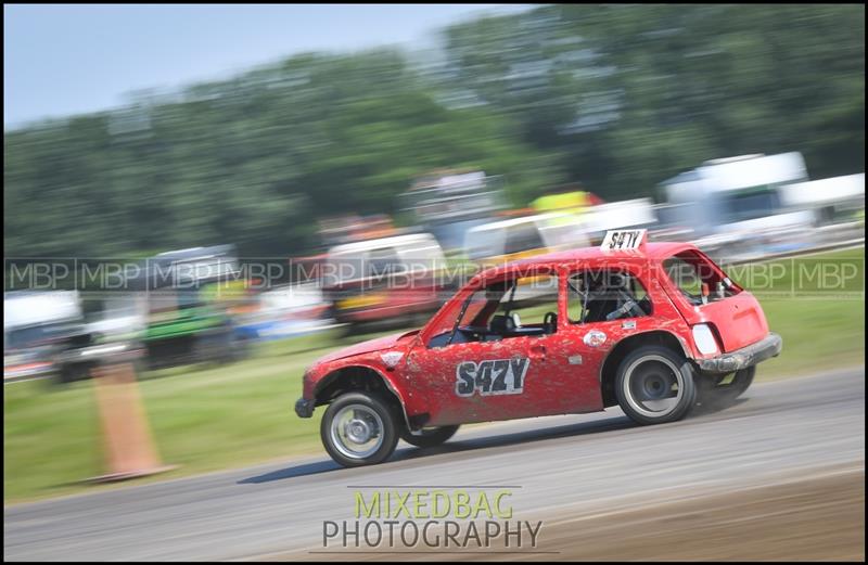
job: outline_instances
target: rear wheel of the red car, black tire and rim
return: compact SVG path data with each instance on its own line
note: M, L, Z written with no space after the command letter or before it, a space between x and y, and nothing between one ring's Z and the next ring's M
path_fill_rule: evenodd
M672 349L642 346L618 365L615 396L624 413L639 424L681 420L697 401L693 367Z

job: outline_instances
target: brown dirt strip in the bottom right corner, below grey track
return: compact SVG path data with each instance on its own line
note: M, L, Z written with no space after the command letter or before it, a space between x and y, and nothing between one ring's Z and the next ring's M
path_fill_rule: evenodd
M456 554L473 561L865 561L865 471L830 467L727 495L550 519L540 554ZM267 561L310 561L306 552ZM354 561L448 558L445 553Z

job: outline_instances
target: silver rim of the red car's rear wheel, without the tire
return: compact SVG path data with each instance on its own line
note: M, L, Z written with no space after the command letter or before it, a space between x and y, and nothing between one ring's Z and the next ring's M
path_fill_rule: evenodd
M650 355L627 367L622 391L638 413L662 418L678 407L685 394L684 385L681 371L671 360Z

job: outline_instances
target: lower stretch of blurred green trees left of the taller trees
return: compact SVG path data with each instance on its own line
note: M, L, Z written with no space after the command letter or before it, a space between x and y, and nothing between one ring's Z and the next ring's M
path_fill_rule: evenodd
M123 255L232 242L280 256L319 216L394 213L417 174L558 180L487 110L448 111L399 53L299 55L177 99L7 132L5 253Z

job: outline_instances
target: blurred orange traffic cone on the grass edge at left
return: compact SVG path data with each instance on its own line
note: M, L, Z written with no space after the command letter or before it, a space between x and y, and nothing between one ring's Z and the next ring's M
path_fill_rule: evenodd
M132 363L103 364L92 375L108 473L90 480L124 480L175 468L159 462Z

